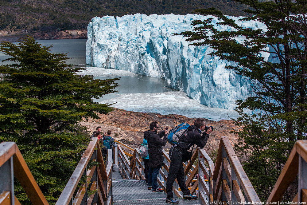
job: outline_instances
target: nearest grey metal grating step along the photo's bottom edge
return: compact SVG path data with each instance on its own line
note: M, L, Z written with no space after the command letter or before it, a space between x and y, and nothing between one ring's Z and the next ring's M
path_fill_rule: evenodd
M176 198L179 201L179 204L192 204L192 205L200 205L198 200L195 201L183 201L181 198ZM121 201L113 201L114 205L166 205L169 203L165 202L165 198L162 199L134 199L134 200L121 200Z

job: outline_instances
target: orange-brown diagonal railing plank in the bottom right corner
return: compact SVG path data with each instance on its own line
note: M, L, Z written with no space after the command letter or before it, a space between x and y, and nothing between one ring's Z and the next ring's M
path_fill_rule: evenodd
M298 161L299 161L299 155L296 152L296 147L297 147L296 145L297 144L295 143L292 151L290 152L288 160L286 161L286 164L282 169L282 172L280 173L269 198L267 199L267 202L281 201L282 196L284 195L286 189L296 178L298 173ZM242 183L240 182L240 184Z

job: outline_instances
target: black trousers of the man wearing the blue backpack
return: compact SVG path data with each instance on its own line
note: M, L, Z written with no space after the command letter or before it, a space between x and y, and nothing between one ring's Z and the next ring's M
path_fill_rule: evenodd
M172 153L173 151L173 153ZM169 150L169 157L171 164L169 165L169 174L166 181L166 198L173 198L173 183L177 178L178 185L184 195L189 195L190 190L185 185L185 170L182 165L182 154L173 147Z

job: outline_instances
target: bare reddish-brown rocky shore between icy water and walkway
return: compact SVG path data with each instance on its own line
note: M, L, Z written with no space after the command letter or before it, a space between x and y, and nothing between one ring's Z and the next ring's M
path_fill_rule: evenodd
M160 131L162 131L165 127L171 129L183 122L191 125L195 119L176 114L161 115L114 108L114 111L109 114L99 114L99 119L89 119L88 121L81 122L80 125L87 127L90 132L95 131L97 126L101 126L103 132L111 129L113 132L112 137L116 133L116 140L120 140L132 148L138 148L143 142L143 132L149 129L150 122L156 120L159 123ZM234 127L231 120L220 120L216 122L206 119L205 122L206 125L213 126L214 128L204 148L208 154L218 149L222 136L227 136L232 145L237 142L237 136L230 133ZM168 150L170 147L171 145L167 143L164 149Z

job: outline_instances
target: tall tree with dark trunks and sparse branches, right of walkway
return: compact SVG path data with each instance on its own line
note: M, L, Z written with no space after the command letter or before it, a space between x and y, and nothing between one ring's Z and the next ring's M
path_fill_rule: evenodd
M241 117L235 123L242 129L236 132L242 140L237 151L244 157L244 168L252 175L251 181L260 198L266 200L294 142L306 139L307 2L235 2L251 8L244 11L252 16L241 18L242 21L261 22L265 29L245 28L210 8L195 12L215 15L220 21L218 25L229 26L231 31L217 30L212 17L193 21L192 25L197 27L181 34L188 41L196 41L193 45L210 45L215 49L211 55L237 63L226 66L227 69L251 79L254 95L237 101ZM270 57L266 59L263 54ZM244 108L258 114L248 116ZM297 184L290 186L285 199L294 197L296 187Z

